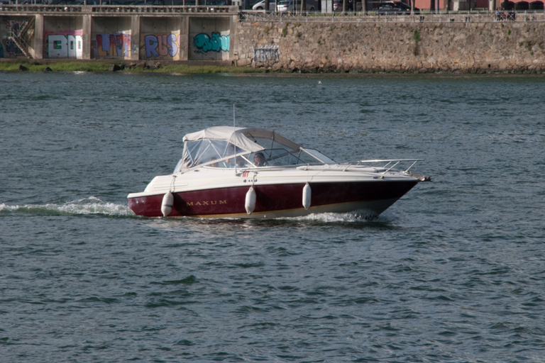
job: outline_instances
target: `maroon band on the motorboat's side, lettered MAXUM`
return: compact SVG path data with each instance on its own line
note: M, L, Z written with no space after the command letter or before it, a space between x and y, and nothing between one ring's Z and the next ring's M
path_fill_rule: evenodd
M417 183L417 180L309 183L312 188L311 206L373 202L383 199L397 200ZM254 186L257 197L254 213L304 209L302 206L303 187L304 184ZM240 186L174 193L174 206L169 216L246 214L244 201L249 188L250 186ZM163 194L143 196L129 199L128 206L139 216L160 217L163 216L161 213L162 201ZM378 211L378 213L380 212Z

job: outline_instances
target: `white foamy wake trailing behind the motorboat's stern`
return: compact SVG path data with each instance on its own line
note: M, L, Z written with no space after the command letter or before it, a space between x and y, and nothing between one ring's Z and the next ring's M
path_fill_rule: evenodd
M108 203L101 201L97 197L91 196L76 201L66 203L48 203L48 204L25 204L8 205L0 204L1 214L29 214L29 215L50 215L50 216L69 216L69 215L104 215L104 216L134 216L133 211L125 204Z

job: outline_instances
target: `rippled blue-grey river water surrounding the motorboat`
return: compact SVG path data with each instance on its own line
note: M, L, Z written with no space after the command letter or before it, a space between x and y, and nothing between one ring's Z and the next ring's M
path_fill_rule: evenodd
M2 362L544 362L545 78L0 73ZM148 219L182 137L431 175L375 219Z

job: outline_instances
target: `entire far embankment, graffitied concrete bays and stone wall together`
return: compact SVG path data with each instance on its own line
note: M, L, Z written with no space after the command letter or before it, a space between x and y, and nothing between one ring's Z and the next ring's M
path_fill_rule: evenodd
M180 9L170 7L151 13L140 13L138 7L121 11L83 6L66 12L65 7L6 8L0 11L0 23L6 25L0 28L0 62L4 58L11 62L0 69L545 72L544 13L524 11L508 17L490 12L393 17L358 13L330 18L228 8L217 12L214 6L214 11L203 13L178 13ZM105 9L113 11L111 16L104 16Z

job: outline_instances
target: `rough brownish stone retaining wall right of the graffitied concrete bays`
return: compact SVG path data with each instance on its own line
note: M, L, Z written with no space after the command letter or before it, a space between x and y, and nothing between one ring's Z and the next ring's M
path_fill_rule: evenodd
M545 72L545 23L240 22L233 65L300 72Z

